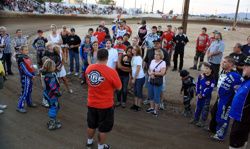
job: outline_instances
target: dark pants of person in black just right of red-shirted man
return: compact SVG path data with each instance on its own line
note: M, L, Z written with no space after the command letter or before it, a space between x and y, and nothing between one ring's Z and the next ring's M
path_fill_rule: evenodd
M117 92L117 102L121 103L121 97L123 94L122 104L125 104L126 100L127 100L127 87L128 87L129 76L119 76L119 77L120 77L120 80L122 82L122 90L116 91Z

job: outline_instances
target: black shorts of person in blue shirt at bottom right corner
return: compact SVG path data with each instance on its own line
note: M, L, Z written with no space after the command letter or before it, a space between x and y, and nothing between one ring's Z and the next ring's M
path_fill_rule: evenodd
M250 125L234 120L230 133L230 146L240 148L248 141Z

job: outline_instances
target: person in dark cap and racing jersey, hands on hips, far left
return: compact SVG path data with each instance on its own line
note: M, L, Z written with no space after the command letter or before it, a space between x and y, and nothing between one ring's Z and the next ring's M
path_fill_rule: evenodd
M33 41L32 46L37 51L37 68L38 70L42 67L42 57L45 51L45 44L48 42L48 39L43 37L43 31L37 31L38 37ZM39 73L38 73L39 74Z

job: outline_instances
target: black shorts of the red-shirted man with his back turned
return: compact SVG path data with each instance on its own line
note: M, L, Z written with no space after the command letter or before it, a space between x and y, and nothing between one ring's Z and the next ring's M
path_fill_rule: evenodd
M114 110L114 106L107 109L98 109L88 106L88 128L98 128L98 131L100 133L110 132L114 125Z

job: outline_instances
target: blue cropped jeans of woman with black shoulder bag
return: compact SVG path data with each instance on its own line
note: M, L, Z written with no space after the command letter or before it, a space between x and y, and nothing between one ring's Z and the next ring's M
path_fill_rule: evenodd
M152 85L150 82L148 82L149 100L155 100L155 103L159 104L162 88L163 88L163 84L161 86L156 86L156 85Z

